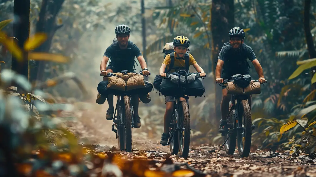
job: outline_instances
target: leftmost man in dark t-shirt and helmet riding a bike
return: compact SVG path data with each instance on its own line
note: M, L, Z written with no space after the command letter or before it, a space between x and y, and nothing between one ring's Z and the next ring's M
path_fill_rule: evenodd
M115 28L115 34L117 41L111 44L104 52L103 59L100 64L100 71L102 76L106 76L108 72L116 73L122 70L127 70L128 72L134 72L134 59L135 56L143 69L143 75L148 76L149 71L147 69L147 64L144 60L142 52L139 48L133 44L130 38L131 28L127 25L118 25ZM111 62L108 67L106 63L111 57ZM103 80L107 80L107 77L103 77ZM147 97L150 99L149 94L146 95L133 95L131 98L131 104L134 108L134 127L141 127L140 117L138 115L138 97ZM107 96L107 103L109 104L109 109L106 111L106 119L111 120L114 114L113 106L113 95L109 94Z

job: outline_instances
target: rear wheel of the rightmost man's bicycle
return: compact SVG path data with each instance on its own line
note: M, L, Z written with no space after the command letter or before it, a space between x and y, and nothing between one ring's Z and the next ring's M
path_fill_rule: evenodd
M231 101L229 101L229 109L232 109L233 103ZM237 129L235 128L235 111L236 109L234 108L227 119L227 124L228 124L228 128L230 129L230 136L229 139L227 140L227 142L224 145L226 154L232 155L235 152L236 149L236 140L237 140ZM223 136L224 141L227 139L228 134L225 134L225 136Z

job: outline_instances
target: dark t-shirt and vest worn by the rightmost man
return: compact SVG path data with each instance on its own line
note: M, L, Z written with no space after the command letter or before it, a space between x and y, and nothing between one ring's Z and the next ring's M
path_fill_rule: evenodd
M224 61L222 75L232 76L234 74L249 74L249 68L248 68L246 59L249 59L252 62L253 60L256 59L256 55L253 52L252 48L249 47L248 45L246 45L245 49L241 49L241 50L243 50L242 54L240 54L239 50L237 51L233 49L227 50L227 46L222 47L218 55L218 59ZM233 62L228 64L228 60L231 60ZM237 66L236 64L238 62L243 62L243 65L246 65L246 66L242 66L242 67Z

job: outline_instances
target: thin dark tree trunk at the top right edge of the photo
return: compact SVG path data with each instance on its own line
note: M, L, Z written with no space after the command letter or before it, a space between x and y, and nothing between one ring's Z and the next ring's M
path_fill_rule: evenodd
M306 43L307 43L307 49L308 49L308 54L309 58L316 58L316 50L314 46L314 41L311 33L311 28L309 25L309 11L311 7L311 0L305 0L304 1L304 31L305 31L305 38L306 38ZM315 70L316 67L313 67L312 70ZM312 78L313 78L314 73L312 73ZM311 86L311 90L316 89L316 83L314 83Z

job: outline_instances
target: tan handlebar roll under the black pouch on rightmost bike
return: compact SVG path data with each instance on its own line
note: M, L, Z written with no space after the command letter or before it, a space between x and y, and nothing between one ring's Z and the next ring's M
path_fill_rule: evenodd
M260 94L260 82L253 82L251 81L250 84L246 88L242 88L235 84L235 82L227 82L227 94L234 94L234 95L254 95Z

